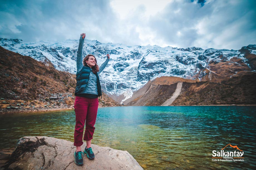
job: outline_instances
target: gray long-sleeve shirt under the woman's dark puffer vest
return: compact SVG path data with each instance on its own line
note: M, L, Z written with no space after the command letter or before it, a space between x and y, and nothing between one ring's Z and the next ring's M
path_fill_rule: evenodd
M84 39L82 38L82 36L80 36L78 51L77 51L77 72L79 72L83 68L83 58L82 58L83 42L84 42ZM102 65L100 65L98 74L100 74L104 70L104 68L106 67L108 62L109 62L109 59L107 57L106 61ZM90 70L90 76L89 76L89 80L88 80L86 89L79 92L78 94L82 94L82 93L89 93L89 94L98 95L97 77L92 72L92 68Z

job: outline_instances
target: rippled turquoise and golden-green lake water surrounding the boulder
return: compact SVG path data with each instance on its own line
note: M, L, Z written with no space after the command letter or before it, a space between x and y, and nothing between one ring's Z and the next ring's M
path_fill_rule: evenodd
M256 169L255 109L255 106L99 108L92 143L126 150L144 169ZM74 110L4 114L0 118L0 149L14 147L23 136L73 141ZM242 157L231 159L236 161L224 162L224 158L213 161L213 150L220 152L228 144L237 145L244 152ZM227 146L224 151L239 150Z

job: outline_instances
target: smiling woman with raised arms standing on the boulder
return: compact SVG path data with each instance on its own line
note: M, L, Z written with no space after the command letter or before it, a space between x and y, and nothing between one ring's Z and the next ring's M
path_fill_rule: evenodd
M109 62L109 54L106 61L100 66L97 65L97 60L92 54L88 54L82 62L82 49L85 33L81 34L77 51L77 86L75 89L75 114L76 125L74 133L74 153L75 163L83 165L82 155L87 154L89 159L94 159L94 154L91 148L92 136L94 133L94 124L97 117L99 106L98 97L102 95L99 74ZM83 129L85 125L85 134ZM81 150L82 141L86 141L84 152Z

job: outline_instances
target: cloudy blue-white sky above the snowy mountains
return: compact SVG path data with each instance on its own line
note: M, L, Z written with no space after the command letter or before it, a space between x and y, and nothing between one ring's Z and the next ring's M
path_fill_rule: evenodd
M256 44L255 0L3 0L0 37L241 49Z

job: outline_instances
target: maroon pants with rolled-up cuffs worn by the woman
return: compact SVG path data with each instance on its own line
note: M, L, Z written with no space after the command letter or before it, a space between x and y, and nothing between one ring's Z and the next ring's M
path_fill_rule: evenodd
M89 141L92 139L95 129L94 125L97 117L98 106L98 98L76 96L74 104L76 114L74 146L81 146L83 144L83 140ZM85 133L83 136L84 124Z

